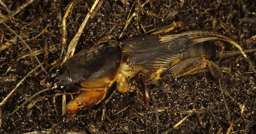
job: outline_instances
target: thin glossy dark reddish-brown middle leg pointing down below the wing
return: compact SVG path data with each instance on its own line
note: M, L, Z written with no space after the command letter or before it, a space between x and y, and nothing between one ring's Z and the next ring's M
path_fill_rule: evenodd
M143 73L139 73L137 75L135 82L138 84L139 89L142 92L144 103L149 105L151 95L150 92L148 91L148 87L146 86L145 76L143 75Z

